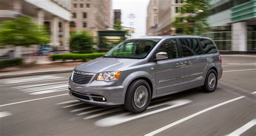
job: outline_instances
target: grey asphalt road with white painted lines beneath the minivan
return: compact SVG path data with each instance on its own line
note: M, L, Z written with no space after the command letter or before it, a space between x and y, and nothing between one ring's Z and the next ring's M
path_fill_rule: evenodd
M154 99L140 114L71 98L71 73L1 79L0 135L256 135L256 56L223 68L215 92Z

